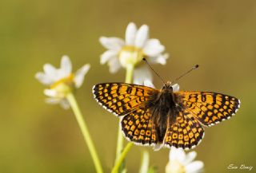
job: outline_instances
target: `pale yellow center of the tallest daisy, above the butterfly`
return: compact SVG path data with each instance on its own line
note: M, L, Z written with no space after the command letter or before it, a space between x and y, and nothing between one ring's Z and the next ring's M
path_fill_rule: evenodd
M126 45L123 46L119 52L119 61L123 67L127 65L136 65L138 62L142 61L144 53L142 49L135 46Z

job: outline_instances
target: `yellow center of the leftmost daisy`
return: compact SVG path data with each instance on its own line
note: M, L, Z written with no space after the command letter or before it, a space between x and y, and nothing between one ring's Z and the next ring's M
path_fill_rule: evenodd
M65 97L67 93L71 92L74 88L74 74L71 73L70 76L64 77L50 86L50 89L54 89L58 93L58 97Z

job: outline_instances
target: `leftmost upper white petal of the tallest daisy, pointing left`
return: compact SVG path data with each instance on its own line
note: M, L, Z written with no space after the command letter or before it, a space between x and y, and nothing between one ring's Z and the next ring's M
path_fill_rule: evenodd
M100 37L99 41L106 49L112 50L120 50L125 45L125 42L118 37Z

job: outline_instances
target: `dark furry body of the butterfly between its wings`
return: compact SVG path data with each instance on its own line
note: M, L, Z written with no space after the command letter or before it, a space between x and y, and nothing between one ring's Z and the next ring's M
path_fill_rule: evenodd
M175 120L173 113L176 108L175 102L173 89L171 86L165 85L154 97L153 104L150 105L159 142L164 140L168 124L172 124Z

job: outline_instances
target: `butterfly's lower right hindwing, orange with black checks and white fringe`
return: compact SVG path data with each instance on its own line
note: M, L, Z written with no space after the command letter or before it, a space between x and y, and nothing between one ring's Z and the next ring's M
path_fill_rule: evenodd
M202 125L186 108L176 108L174 116L176 120L173 123L168 122L165 147L190 149L197 146L204 136Z

